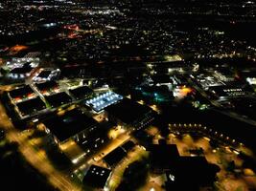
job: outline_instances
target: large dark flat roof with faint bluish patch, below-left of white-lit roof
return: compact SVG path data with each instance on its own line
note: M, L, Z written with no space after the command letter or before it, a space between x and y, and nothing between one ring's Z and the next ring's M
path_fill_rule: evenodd
M67 111L63 116L58 117L56 115L47 118L43 123L59 141L71 138L81 131L98 124L92 117L87 117L77 108Z

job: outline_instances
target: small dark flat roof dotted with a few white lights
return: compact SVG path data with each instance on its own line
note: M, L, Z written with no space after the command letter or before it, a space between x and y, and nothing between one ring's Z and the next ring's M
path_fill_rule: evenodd
M82 182L92 187L104 188L111 170L96 165L91 165Z

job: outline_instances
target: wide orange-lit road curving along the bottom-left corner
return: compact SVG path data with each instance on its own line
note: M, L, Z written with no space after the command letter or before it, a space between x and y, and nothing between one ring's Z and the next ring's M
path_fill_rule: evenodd
M6 137L10 141L18 143L19 151L24 158L44 175L49 182L58 190L63 191L79 191L80 189L75 186L70 180L65 178L63 174L58 172L51 162L41 155L35 148L29 144L28 138L21 136L21 132L14 128L12 121L6 115L6 111L0 102L0 126L5 129Z

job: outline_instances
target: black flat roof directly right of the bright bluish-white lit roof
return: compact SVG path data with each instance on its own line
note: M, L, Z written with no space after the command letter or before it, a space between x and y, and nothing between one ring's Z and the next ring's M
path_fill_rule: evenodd
M136 101L128 98L122 99L120 102L105 108L105 111L125 123L131 123L151 111L146 105L141 105Z

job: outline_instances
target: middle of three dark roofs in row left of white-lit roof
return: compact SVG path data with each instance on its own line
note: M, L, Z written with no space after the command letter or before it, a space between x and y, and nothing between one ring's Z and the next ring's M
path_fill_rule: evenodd
M65 92L58 93L51 96L45 96L51 107L59 107L61 105L72 102L71 96L68 96Z

